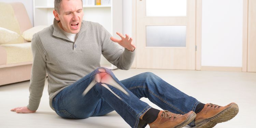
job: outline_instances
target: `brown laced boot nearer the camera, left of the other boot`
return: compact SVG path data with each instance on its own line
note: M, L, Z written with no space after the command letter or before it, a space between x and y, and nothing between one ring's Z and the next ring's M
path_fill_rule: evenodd
M157 119L148 124L150 128L182 128L196 117L196 113L190 111L184 115L171 113L167 110L160 111Z

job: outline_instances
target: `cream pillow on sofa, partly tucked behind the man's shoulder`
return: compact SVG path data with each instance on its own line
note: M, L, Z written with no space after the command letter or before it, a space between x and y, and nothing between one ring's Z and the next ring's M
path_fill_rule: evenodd
M33 34L43 30L44 28L46 28L48 26L45 26L45 25L40 25L40 26L35 26L33 28L30 28L26 31L24 31L22 33L22 37L26 40L26 41L31 41L32 40L32 37L33 37Z

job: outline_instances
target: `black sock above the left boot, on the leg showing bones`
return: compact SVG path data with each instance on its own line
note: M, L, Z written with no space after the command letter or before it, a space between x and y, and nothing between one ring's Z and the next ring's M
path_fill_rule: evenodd
M158 117L158 113L160 112L160 110L158 109L154 109L154 108L150 108L142 117L142 119L147 123L153 123L156 118Z

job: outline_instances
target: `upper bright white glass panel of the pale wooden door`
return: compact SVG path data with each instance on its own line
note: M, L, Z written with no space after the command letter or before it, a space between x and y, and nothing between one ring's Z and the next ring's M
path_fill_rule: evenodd
M146 0L146 16L186 16L187 0Z

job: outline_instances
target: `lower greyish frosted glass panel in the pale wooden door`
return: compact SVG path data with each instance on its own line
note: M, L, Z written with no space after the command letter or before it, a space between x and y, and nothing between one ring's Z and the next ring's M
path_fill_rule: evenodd
M186 47L186 26L146 26L147 47Z

